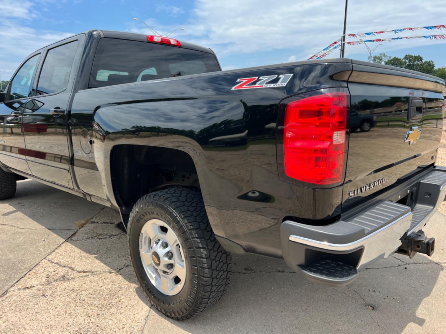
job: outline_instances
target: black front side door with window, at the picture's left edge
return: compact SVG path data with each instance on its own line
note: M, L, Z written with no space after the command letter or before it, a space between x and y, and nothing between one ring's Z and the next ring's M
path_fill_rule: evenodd
M0 104L0 161L17 171L31 174L26 163L22 115L31 91L40 52L26 59L11 79L5 102Z

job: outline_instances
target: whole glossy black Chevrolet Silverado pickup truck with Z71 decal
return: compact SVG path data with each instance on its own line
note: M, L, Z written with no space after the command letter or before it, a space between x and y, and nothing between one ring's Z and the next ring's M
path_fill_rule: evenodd
M119 210L143 291L174 319L222 297L230 253L342 286L434 251L443 94L362 61L221 71L211 49L91 30L32 53L0 93L0 196L29 178Z

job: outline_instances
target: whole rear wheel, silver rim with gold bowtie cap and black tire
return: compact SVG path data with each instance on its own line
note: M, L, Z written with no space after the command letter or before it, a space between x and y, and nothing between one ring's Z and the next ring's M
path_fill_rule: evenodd
M128 245L142 290L169 318L192 318L227 290L231 257L215 239L198 191L141 197L129 217Z

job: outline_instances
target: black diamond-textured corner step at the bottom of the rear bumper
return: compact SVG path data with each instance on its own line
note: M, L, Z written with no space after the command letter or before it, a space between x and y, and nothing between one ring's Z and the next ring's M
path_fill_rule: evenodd
M320 259L308 267L299 267L310 281L324 282L325 285L347 285L358 276L358 270L354 266L330 259L330 257Z

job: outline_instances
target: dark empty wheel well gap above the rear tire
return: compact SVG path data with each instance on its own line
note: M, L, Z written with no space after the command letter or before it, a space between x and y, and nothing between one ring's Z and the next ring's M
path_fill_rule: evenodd
M115 199L124 215L149 192L169 187L200 190L194 161L173 148L116 145L111 150L110 171Z

